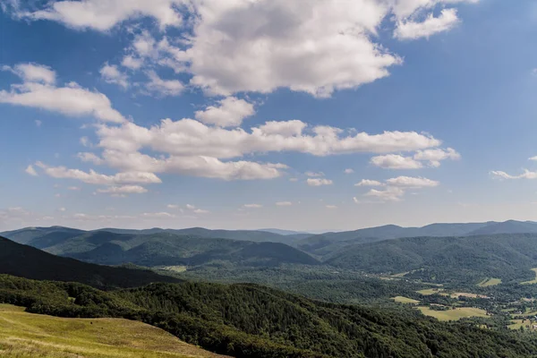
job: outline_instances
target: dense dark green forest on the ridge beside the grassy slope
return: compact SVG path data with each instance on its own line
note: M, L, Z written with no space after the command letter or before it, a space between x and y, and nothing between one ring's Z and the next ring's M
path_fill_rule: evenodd
M414 311L311 301L256 285L184 282L110 292L0 276L0 302L61 317L141 320L236 357L530 357L537 337Z

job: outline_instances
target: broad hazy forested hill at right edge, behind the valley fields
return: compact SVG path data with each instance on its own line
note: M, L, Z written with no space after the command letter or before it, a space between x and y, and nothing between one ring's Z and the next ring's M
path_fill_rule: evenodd
M432 282L532 279L537 234L411 237L345 247L326 261L369 272L409 272Z

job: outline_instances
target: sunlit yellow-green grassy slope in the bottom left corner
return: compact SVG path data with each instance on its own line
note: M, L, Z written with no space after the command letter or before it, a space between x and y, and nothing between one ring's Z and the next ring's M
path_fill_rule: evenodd
M63 319L23 310L0 304L1 357L223 357L133 320Z

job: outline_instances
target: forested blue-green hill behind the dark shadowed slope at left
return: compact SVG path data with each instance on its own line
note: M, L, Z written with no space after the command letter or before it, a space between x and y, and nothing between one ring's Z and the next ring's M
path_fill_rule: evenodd
M284 243L253 243L167 232L115 234L94 231L73 236L71 231L66 231L35 237L29 244L55 255L103 265L200 266L227 262L255 267L319 263L307 253Z

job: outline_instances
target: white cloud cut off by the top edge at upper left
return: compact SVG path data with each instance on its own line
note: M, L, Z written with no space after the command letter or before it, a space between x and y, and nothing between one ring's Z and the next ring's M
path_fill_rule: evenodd
M32 20L51 20L74 29L107 31L116 24L149 16L158 21L162 29L180 26L181 14L174 9L175 0L81 0L56 1L45 9L33 13L21 13Z

